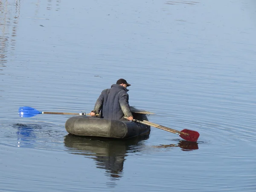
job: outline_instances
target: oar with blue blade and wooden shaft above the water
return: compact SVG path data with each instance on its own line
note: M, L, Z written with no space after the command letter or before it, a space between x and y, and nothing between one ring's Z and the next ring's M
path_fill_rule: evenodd
M19 116L20 117L32 117L38 114L57 114L57 115L89 115L89 113L59 113L59 112L44 112L38 111L31 107L20 107Z

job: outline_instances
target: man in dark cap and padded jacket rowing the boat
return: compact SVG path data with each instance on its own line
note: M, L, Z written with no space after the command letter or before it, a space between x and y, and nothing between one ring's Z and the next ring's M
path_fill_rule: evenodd
M101 118L125 120L125 116L132 121L133 115L129 105L128 89L131 86L125 79L118 79L110 89L105 89L97 99L90 116L100 113Z

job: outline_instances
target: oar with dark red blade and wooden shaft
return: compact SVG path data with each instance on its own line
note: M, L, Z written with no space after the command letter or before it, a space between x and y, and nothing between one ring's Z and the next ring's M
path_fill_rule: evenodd
M127 117L125 117L125 119L127 119ZM139 122L145 125L149 125L149 126L153 126L159 129L162 129L164 131L169 131L171 133L174 134L178 134L182 139L187 140L187 141L192 141L192 142L196 142L198 140L198 137L200 136L200 134L197 131L192 131L189 129L183 129L182 131L176 131L174 129L162 126L162 125L158 125L156 123L152 123L146 120L138 120L138 119L134 119L134 122Z

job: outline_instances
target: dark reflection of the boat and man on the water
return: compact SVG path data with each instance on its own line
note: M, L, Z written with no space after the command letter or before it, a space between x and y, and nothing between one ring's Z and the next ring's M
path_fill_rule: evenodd
M118 179L122 176L126 153L139 151L140 141L148 137L149 133L126 140L68 134L64 138L64 145L72 154L80 154L96 160L97 168L105 169L112 179Z

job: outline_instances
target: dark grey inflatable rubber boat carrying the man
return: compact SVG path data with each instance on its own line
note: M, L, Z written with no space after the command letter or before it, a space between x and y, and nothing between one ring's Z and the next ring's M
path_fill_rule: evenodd
M136 119L147 120L147 117L145 114L139 114ZM74 135L111 138L135 137L150 131L150 126L137 122L87 116L70 117L65 123L65 128L68 133Z

